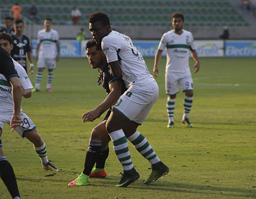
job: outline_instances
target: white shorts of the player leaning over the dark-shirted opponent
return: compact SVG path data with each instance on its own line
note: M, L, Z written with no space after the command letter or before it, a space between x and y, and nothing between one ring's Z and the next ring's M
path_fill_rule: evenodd
M114 109L129 121L142 125L158 98L159 88L156 81L144 86L130 86L118 99Z

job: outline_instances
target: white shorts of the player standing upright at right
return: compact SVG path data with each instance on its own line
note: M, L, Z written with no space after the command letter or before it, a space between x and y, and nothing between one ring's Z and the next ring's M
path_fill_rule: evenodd
M183 92L193 90L191 73L166 72L166 94L179 93L179 85Z

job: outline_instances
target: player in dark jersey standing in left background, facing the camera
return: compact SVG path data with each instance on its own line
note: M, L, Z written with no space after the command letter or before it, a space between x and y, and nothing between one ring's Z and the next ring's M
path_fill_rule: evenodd
M30 48L30 40L26 35L23 35L24 22L21 19L15 20L14 23L14 35L13 37L13 49L11 50L11 56L17 61L27 72L27 59L30 63L30 73L34 72L34 64L32 62L32 53Z

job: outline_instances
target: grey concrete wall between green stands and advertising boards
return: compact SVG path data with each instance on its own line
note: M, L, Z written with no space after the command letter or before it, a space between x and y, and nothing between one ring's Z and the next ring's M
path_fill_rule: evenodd
M89 27L85 26L52 26L53 29L59 32L61 39L76 39L80 28L84 28L86 38L91 38ZM29 32L31 39L36 39L39 30L44 27L35 25L32 32ZM164 32L172 29L172 27L134 27L134 26L118 26L113 27L114 30L130 36L131 39L139 40L160 40ZM218 39L222 34L222 27L185 27L185 30L191 31L195 39ZM30 29L31 30L31 29ZM256 39L256 27L229 27L230 39ZM26 29L24 34L26 34Z

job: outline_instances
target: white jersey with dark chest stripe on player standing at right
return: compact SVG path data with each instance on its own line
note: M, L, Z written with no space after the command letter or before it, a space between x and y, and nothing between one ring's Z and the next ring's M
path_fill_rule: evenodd
M190 73L188 59L189 50L194 50L194 39L191 32L183 30L177 35L174 30L163 34L158 49L167 51L166 72Z

